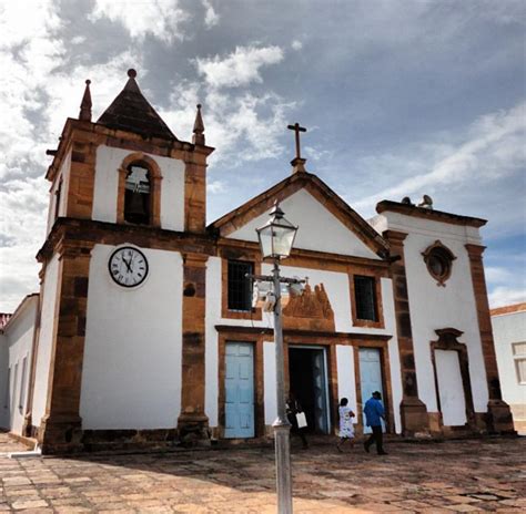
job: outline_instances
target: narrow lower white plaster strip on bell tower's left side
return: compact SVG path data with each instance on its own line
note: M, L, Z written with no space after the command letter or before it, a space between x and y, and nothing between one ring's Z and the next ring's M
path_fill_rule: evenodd
M48 380L51 363L51 351L55 330L55 306L59 291L59 258L53 256L45 268L45 276L41 298L40 331L37 351L33 404L31 411L32 423L40 425L45 412L48 398Z

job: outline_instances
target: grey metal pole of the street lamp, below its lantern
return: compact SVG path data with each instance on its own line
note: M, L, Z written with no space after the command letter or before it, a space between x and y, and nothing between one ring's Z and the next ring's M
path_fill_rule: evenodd
M272 271L274 294L274 343L276 352L276 400L277 418L274 428L274 445L276 453L276 489L279 514L292 514L292 473L291 473L291 423L286 419L285 409L285 371L283 358L283 326L281 315L280 260L274 259Z

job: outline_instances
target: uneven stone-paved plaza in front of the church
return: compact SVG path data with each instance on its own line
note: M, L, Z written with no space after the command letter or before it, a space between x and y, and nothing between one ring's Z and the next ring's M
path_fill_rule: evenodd
M347 453L294 445L294 512L526 512L524 438L392 442L387 451L381 458L361 445ZM0 512L275 512L271 448L0 455Z

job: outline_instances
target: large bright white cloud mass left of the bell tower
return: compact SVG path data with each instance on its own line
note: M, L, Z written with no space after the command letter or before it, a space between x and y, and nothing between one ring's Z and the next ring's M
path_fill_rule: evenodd
M2 310L13 310L37 291L40 265L34 256L45 229L49 157L68 116L75 117L92 79L95 119L125 83L125 69L140 56L130 53L108 63L65 69L63 23L49 0L7 2L0 7L0 296ZM80 39L77 39L80 43Z

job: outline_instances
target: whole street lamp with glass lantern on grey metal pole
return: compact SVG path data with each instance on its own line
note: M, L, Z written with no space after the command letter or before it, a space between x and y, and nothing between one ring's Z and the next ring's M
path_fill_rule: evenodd
M272 259L272 281L274 284L274 346L276 361L276 400L277 418L272 424L274 428L274 445L276 455L276 489L277 512L292 513L292 473L291 473L291 424L286 419L285 409L285 373L283 358L283 325L281 312L281 281L280 259L289 257L296 236L297 227L287 222L279 203L271 210L271 219L256 228L263 259Z

